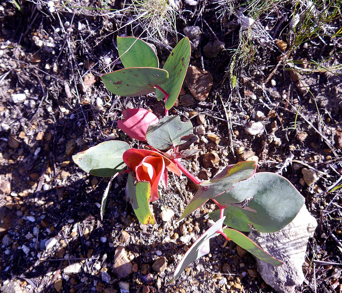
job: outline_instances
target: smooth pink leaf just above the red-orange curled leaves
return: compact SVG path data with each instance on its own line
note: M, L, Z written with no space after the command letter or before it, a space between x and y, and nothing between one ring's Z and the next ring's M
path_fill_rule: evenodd
M118 127L130 137L146 142L146 131L150 124L159 121L156 115L142 108L127 108L122 111L124 121L118 120Z

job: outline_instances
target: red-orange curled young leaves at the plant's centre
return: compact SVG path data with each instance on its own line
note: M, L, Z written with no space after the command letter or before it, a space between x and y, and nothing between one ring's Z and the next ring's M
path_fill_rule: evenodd
M131 148L123 153L123 161L135 172L137 181L150 183L150 202L159 198L158 185L160 181L167 187L168 170L178 176L181 175L181 171L175 163L153 150Z

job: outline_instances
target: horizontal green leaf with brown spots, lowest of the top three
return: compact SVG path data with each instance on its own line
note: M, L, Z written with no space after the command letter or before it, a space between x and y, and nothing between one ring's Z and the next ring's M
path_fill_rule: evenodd
M129 67L101 76L108 91L115 95L136 97L154 92L156 84L168 81L166 70L154 67Z

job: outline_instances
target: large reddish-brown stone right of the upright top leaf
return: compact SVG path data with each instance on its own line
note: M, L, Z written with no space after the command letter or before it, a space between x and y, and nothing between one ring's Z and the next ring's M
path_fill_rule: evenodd
M185 76L186 85L195 99L205 101L213 84L213 77L209 71L203 71L196 66L189 66Z

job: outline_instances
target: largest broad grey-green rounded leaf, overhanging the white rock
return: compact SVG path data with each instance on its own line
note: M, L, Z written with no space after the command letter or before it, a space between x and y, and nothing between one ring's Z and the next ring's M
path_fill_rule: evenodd
M244 202L244 200L246 200ZM304 197L279 174L260 172L240 181L233 189L215 197L227 205L225 224L240 231L257 229L262 233L279 231L288 225L304 204ZM220 218L220 211L210 213L212 219Z

